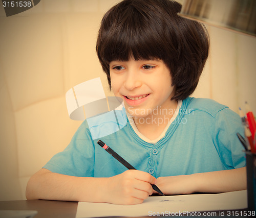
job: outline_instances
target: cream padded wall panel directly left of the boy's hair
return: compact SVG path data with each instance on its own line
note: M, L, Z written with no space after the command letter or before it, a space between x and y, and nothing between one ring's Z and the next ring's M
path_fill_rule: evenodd
M96 54L96 39L101 14L67 15L63 43L65 91L97 77L104 77Z

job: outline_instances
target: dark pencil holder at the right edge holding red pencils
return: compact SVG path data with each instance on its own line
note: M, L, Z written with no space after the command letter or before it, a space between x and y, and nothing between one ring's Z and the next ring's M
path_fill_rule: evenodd
M255 211L256 208L256 154L246 153L247 173L247 202L248 210Z

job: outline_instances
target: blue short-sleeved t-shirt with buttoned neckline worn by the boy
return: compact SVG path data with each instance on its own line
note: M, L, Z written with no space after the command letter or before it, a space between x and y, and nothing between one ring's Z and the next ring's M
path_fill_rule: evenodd
M189 175L245 166L236 133L243 135L239 115L210 99L187 98L163 138L142 140L125 110L85 120L69 146L44 166L54 173L78 177L111 177L127 170L102 149L101 139L140 171L154 177Z

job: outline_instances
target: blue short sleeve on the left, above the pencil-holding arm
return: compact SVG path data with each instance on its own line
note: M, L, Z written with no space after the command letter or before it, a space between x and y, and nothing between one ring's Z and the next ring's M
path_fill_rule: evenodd
M94 144L86 120L78 128L68 147L54 155L43 168L70 176L93 177Z

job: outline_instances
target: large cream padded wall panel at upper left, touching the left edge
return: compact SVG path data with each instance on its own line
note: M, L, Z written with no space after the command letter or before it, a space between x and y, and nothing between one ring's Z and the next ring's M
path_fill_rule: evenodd
M58 17L1 19L0 57L14 111L63 94Z

